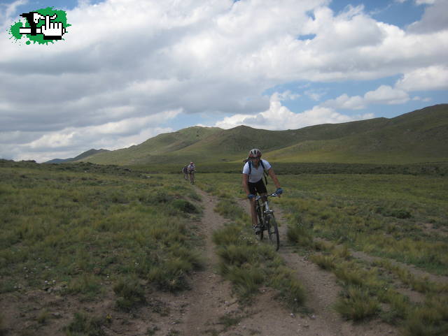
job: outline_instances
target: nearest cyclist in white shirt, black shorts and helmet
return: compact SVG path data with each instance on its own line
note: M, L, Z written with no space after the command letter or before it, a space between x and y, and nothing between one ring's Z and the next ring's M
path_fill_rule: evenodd
M254 148L249 151L247 162L243 168L242 184L244 191L246 191L247 198L251 202L252 227L255 229L255 234L260 233L260 226L258 226L257 214L255 211L255 195L266 196L267 190L263 182L263 173L267 171L268 175L274 181L276 193L283 193L280 187L279 180L274 173L269 162L261 159L260 149Z

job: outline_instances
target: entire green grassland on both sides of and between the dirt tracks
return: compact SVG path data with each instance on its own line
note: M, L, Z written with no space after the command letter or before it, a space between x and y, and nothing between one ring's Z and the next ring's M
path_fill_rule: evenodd
M406 336L446 335L448 286L438 279L448 275L447 177L313 167L319 173L283 171L285 193L274 203L283 208L288 244L334 272L344 288L335 309L353 321L396 324ZM116 309L132 312L144 305L148 286L181 291L202 267L203 242L192 225L200 196L180 173L0 161L0 181L0 295L43 289L89 301L113 288ZM272 248L255 240L235 202L245 198L241 175L197 173L197 186L218 196L216 211L231 219L214 242L221 275L241 302L269 286L302 309L305 289ZM268 189L274 191L272 182ZM36 328L45 319L42 312ZM0 329L2 323L0 312ZM101 323L81 311L64 330L95 335Z

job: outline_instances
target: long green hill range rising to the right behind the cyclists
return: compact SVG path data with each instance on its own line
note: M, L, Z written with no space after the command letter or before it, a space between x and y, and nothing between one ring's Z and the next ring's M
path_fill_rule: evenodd
M78 161L117 165L241 162L248 149L258 147L264 157L278 162L421 163L448 161L447 143L448 104L441 104L391 119L286 131L194 126Z

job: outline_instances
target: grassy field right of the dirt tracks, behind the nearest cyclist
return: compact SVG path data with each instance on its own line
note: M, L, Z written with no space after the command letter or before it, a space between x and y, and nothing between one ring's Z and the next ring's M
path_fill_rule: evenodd
M302 174L279 179L285 193L275 202L286 214L288 239L297 253L335 272L344 288L335 307L342 316L378 317L398 325L402 335L446 335L448 285L429 279L448 275L446 177ZM223 198L245 196L237 174L198 175L197 183ZM351 251L377 258L354 258ZM420 293L421 300L410 300L405 288Z

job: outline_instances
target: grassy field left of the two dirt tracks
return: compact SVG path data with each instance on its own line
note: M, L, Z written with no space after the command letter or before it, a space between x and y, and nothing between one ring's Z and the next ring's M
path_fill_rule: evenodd
M126 168L47 168L1 162L0 295L44 290L91 301L113 288L117 309L132 312L145 288L189 287L188 274L202 267L191 224L202 210L188 184ZM85 322L76 330L97 335L84 318L74 316Z

